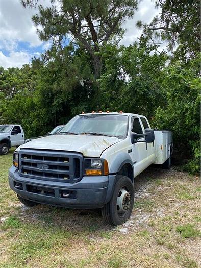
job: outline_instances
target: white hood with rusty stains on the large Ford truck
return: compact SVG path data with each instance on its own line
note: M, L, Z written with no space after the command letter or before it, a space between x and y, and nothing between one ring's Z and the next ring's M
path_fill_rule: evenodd
M92 135L53 135L31 140L19 149L46 149L79 152L84 156L100 157L111 145L121 141L116 137ZM17 150L18 151L18 150Z

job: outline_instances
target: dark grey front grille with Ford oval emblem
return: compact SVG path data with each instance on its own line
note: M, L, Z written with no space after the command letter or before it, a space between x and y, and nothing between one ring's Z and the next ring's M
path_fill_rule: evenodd
M77 182L82 179L83 157L78 153L19 150L19 174L23 177Z

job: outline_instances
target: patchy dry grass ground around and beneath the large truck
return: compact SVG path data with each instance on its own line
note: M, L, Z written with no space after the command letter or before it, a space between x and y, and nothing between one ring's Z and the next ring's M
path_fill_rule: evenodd
M8 185L13 151L0 156L0 267L201 266L200 181L193 176L146 170L135 179L143 190L131 220L114 228L96 210L21 205Z

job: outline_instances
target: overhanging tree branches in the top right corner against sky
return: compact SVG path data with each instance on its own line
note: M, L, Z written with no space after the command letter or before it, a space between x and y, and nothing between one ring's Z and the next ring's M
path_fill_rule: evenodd
M200 51L200 1L157 0L161 9L150 24L137 22L155 44L168 41L169 50L177 47L177 55L183 60L196 57Z

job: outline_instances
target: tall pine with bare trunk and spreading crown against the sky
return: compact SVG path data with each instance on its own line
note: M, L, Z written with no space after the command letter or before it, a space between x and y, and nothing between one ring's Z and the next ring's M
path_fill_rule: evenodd
M24 7L37 0L22 0ZM33 16L41 40L51 40L58 50L68 38L88 51L94 66L94 78L101 76L100 48L111 39L121 37L121 23L132 17L138 0L53 0L52 7L39 5L39 14ZM72 37L72 38L71 38Z

